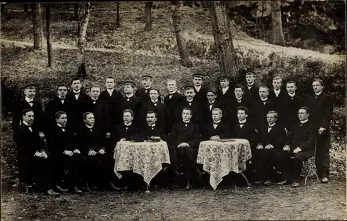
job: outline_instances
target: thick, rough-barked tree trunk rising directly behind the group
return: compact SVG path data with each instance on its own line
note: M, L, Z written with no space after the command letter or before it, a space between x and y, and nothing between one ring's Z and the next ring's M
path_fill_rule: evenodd
M217 59L221 74L233 77L237 71L237 58L235 55L230 20L227 15L226 6L221 1L210 1L210 15L214 46L217 49Z

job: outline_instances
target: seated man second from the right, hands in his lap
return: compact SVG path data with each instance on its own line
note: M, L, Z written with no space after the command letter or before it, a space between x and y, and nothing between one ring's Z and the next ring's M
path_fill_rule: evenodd
M253 151L253 163L257 170L257 177L255 177L255 184L271 185L273 179L275 179L276 166L276 153L279 152L286 140L285 128L276 123L277 113L275 111L269 111L266 114L266 121L268 125L262 127L260 132L260 143Z

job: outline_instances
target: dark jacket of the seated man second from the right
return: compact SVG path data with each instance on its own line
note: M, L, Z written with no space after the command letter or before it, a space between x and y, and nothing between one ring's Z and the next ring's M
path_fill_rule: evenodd
M267 125L262 127L262 130L260 132L259 143L262 143L264 148L266 145L269 144L273 145L273 148L275 150L282 150L287 139L285 128L281 127L278 123L276 123L275 125L273 125L270 132L267 132L267 130Z

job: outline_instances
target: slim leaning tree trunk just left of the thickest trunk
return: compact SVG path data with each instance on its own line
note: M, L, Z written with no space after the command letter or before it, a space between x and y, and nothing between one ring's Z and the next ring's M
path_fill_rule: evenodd
M175 28L175 34L176 34L176 40L177 40L177 46L178 51L180 53L180 63L184 67L192 67L192 61L189 59L189 53L187 45L185 44L185 39L183 37L183 30L182 30L182 24L181 24L181 15L180 10L183 6L183 1L177 1L175 6L172 7L172 21L174 23Z

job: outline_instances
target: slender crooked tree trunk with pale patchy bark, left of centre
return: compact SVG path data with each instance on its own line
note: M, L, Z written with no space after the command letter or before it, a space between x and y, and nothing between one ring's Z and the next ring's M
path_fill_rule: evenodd
M85 77L87 71L85 70L85 35L87 34L87 26L90 18L90 2L84 2L81 6L84 7L83 17L80 20L78 17L78 75Z

